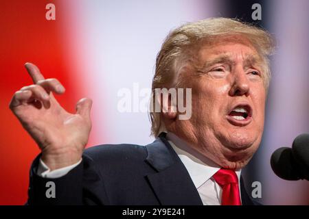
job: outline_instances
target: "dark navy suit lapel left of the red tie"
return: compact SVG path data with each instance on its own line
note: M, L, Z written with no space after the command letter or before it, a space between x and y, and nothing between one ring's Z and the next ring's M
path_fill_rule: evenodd
M161 205L203 205L187 169L164 134L146 149L146 162L157 170L146 178Z

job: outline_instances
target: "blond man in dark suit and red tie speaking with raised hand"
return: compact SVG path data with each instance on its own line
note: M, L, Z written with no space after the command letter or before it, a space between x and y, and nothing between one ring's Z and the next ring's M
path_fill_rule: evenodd
M152 90L192 88L192 116L179 119L172 97L159 99L167 110L150 112L155 142L87 150L91 100L69 114L53 94L65 92L61 83L25 64L34 84L16 92L10 108L42 151L32 164L27 203L255 204L240 172L261 142L272 50L265 31L229 18L175 29L157 56ZM50 182L54 197L47 196Z

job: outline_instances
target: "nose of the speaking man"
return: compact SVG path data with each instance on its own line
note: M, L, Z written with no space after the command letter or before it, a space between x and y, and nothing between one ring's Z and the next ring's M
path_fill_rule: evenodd
M231 90L229 91L229 94L231 96L248 96L249 95L249 80L247 78L246 73L244 73L244 70L239 69L234 74Z

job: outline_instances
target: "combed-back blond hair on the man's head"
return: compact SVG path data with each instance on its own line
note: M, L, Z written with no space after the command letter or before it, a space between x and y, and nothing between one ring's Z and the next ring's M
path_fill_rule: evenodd
M264 86L268 89L271 80L271 70L268 62L268 55L273 53L275 42L270 34L263 29L242 23L231 18L207 18L202 21L187 23L174 29L165 38L161 50L157 55L155 75L152 79L152 99L155 104L155 89L170 88L177 78L177 73L182 62L185 62L185 55L192 51L198 42L212 40L220 36L240 35L247 38L253 47L258 51L264 63ZM161 118L161 112L150 110L151 133L159 136L161 131L166 131Z

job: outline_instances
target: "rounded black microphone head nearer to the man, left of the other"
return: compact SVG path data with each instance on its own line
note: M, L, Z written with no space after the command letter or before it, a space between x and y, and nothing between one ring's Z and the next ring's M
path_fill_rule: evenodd
M292 149L282 147L271 155L271 168L275 175L286 180L299 180Z

